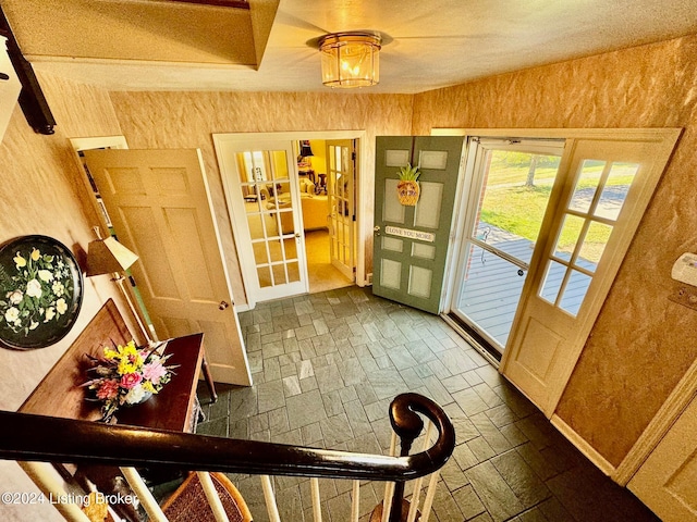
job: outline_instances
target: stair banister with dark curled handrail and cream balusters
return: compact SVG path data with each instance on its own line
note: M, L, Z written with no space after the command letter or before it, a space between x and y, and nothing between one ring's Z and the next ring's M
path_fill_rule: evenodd
M196 472L196 485L205 494L196 497L196 501L203 502L199 513L210 512L209 520L218 522L250 518L239 518L242 515L236 511L229 515L230 510L223 506L229 502L229 492L221 498L220 492L224 489L213 484L210 472L258 475L271 522L281 522L271 480L274 475L310 477L315 522L322 521L319 482L322 478L353 481L352 522L358 522L360 517L360 481L384 483L384 498L372 511L370 522L427 522L439 470L455 447L453 425L438 405L417 394L398 396L389 413L392 443L390 455L382 456L2 411L0 458L19 461L47 498L65 499L51 504L69 521L84 522L90 518L65 490L65 484L56 478L50 463L121 469L130 490L152 521L170 519L138 473L143 468ZM71 480L65 474L63 478ZM413 494L406 500L405 485L412 481ZM234 498L234 486L231 489ZM240 498L237 504L243 505L244 500Z

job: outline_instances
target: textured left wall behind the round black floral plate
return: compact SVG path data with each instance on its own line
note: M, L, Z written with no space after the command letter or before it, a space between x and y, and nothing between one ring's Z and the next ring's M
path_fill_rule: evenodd
M119 122L106 91L50 76L39 76L39 82L58 125L52 136L35 134L19 105L14 108L0 144L0 243L29 234L50 236L81 262L98 220L69 138L120 134ZM110 297L121 301L109 276L84 283L83 306L66 337L36 350L0 348L0 409L15 411L103 302ZM120 302L120 309L127 306ZM38 489L15 462L0 461L0 490ZM63 520L50 505L3 506L1 511L8 522Z

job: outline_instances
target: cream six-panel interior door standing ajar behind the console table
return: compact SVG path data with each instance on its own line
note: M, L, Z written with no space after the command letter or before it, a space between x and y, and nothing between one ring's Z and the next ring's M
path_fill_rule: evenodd
M203 332L213 380L250 385L200 151L87 150L160 338Z

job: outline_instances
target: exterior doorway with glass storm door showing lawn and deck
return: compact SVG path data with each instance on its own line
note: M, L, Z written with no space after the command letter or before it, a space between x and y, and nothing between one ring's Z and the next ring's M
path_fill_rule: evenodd
M473 141L469 201L451 314L500 360L522 300L563 140Z

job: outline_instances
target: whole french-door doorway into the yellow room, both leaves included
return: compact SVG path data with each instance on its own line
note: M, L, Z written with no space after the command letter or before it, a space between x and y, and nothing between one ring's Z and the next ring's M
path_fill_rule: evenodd
M365 285L364 132L217 134L213 142L248 308Z

